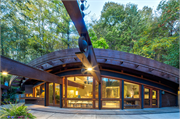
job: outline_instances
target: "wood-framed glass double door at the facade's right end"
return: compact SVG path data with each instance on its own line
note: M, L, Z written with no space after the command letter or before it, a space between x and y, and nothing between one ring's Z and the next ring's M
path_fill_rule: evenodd
M144 107L158 107L158 90L153 88L144 88Z

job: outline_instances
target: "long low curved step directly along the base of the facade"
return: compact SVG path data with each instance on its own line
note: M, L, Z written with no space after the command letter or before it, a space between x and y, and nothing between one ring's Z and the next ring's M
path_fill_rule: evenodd
M142 114L163 114L163 113L179 113L178 107L163 108L144 108L144 109L69 109L53 106L27 105L28 109L33 111L61 113L61 114L81 114L81 115L142 115Z

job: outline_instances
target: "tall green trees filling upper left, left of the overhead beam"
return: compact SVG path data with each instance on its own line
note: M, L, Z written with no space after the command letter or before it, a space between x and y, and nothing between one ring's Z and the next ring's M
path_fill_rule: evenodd
M61 0L4 0L1 12L3 56L28 63L55 50L77 47L78 33Z

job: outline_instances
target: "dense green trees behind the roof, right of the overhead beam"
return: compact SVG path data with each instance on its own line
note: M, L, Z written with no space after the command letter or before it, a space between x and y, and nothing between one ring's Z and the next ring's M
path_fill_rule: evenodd
M151 58L179 68L179 0L162 0L157 11L135 4L104 4L101 18L93 21L96 36L104 38L112 50ZM98 43L94 44L96 47Z

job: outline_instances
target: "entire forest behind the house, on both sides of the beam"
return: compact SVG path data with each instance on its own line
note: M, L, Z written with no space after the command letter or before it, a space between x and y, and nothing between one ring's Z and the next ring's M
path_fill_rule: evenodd
M107 2L100 19L86 23L93 47L179 68L179 6L180 0L162 0L154 14L148 6L139 10L132 3ZM0 51L5 57L28 63L53 51L78 47L79 35L61 0L2 0L0 16Z

